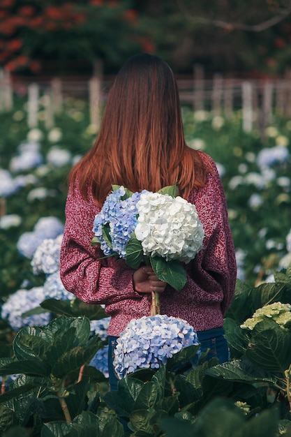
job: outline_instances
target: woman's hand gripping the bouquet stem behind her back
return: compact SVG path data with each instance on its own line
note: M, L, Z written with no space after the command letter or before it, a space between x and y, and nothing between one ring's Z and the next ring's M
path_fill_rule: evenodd
M160 281L154 270L149 265L144 265L135 270L133 274L133 287L140 293L163 292L167 283Z

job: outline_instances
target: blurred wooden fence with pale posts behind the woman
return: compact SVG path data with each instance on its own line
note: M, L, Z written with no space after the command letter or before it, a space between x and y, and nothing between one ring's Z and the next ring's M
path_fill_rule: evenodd
M13 109L15 94L27 96L27 123L38 125L39 98L45 102L45 124L54 126L54 114L61 112L64 98L74 96L89 101L91 124L100 124L100 105L113 77L13 77L0 71L0 111ZM213 116L231 118L235 111L242 112L242 127L251 132L263 131L274 120L274 114L291 117L291 75L276 80L234 79L215 74L204 78L200 68L193 77L177 77L181 105L195 111L210 111Z

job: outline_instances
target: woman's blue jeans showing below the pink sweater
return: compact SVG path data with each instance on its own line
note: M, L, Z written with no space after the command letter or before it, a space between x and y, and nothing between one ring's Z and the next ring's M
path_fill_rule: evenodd
M197 331L197 336L201 345L201 352L204 353L209 349L205 361L211 360L213 357L217 357L220 364L230 360L223 327L207 329L207 331ZM108 373L110 390L112 392L117 391L117 383L119 381L113 367L114 349L117 346L117 339L118 337L108 336Z

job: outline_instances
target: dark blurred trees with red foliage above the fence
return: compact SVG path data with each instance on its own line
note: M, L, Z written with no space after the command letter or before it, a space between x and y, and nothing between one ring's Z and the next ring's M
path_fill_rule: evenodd
M116 73L151 52L177 74L278 77L290 68L287 0L1 0L0 63L17 75Z

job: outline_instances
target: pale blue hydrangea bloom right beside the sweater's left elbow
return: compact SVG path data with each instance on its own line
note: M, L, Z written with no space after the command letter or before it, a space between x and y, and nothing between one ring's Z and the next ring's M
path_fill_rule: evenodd
M59 270L62 239L63 234L58 235L57 238L46 238L38 246L31 260L33 274L52 274Z

